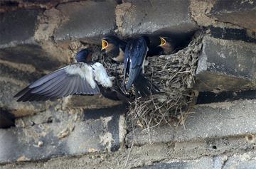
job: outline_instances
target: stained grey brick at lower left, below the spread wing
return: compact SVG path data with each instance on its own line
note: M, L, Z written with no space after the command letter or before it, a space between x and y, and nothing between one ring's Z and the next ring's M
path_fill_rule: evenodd
M102 116L100 111L110 113ZM117 151L125 133L122 108L90 113L97 115L85 115L85 121L69 115L64 120L60 118L59 122L0 129L0 163Z

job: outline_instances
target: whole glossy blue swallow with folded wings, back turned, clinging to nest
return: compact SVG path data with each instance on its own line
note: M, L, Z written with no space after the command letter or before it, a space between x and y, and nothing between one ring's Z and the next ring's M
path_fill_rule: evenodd
M123 84L126 90L129 90L134 84L135 91L139 96L146 97L150 94L156 94L159 89L147 80L143 73L144 60L148 52L148 44L142 36L133 40L129 40L125 48L124 59L124 80ZM126 75L129 79L125 84Z

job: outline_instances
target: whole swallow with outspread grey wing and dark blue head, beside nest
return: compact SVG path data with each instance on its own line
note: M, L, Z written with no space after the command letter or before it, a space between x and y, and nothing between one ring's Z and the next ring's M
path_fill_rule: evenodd
M92 51L83 49L76 55L76 63L68 65L41 77L22 89L14 97L18 102L46 101L72 94L103 96L118 100L123 94L112 90L112 80L100 62L92 62Z

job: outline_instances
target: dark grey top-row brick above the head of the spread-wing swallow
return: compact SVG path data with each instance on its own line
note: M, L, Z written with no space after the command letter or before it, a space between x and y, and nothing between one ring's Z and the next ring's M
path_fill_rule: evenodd
M114 0L60 4L57 9L67 19L55 30L55 40L100 40L114 31L115 6Z

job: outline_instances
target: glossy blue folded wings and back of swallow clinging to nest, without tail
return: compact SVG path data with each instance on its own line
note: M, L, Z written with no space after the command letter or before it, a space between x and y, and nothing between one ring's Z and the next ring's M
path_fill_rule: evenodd
M129 79L126 84L126 89L129 89L134 80L137 79L138 75L142 71L142 63L146 57L148 47L144 38L137 38L135 40L130 40L125 49L125 60L124 60L124 70L129 66ZM124 71L124 76L126 72ZM124 77L125 78L125 77Z

